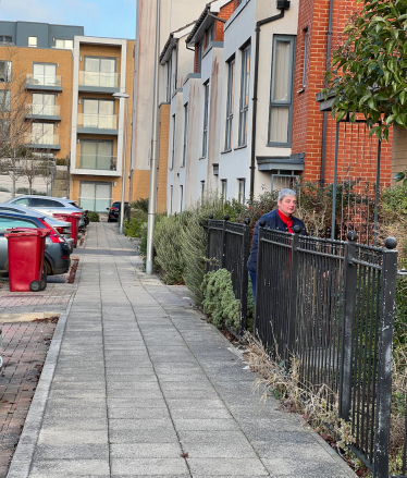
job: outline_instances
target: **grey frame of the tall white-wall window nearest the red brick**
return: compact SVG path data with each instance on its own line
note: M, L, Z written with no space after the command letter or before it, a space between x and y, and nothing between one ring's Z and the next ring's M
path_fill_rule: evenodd
M295 66L295 39L296 37L293 35L273 35L273 57L271 61L271 81L270 81L270 101L269 101L269 124L268 124L268 144L267 146L271 147L282 147L282 148L291 148L292 146L292 126L293 126L293 99L294 99L294 66ZM274 89L274 81L275 81L275 61L274 54L276 51L278 41L285 41L291 44L289 49L289 74L288 74L288 93L289 93L289 101L288 100L272 100L273 89ZM271 127L271 110L272 108L288 108L288 131L287 131L287 142L272 142L270 140L270 127Z

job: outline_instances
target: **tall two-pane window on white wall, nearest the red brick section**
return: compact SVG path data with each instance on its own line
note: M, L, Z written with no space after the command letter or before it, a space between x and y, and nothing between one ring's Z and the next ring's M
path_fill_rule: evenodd
M269 145L289 146L293 109L294 37L274 36Z

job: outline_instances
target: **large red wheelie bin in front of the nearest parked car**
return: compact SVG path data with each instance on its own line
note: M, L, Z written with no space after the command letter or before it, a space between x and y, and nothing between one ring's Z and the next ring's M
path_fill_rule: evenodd
M9 278L11 292L38 292L47 287L42 275L47 229L9 229Z

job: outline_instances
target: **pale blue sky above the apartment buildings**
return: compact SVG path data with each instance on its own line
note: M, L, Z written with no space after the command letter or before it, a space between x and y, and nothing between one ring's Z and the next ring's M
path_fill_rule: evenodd
M137 0L0 0L0 20L85 27L85 35L135 38Z

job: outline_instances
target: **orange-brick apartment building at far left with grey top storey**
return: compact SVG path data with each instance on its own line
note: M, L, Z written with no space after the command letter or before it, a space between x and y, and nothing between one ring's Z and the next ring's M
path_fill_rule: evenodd
M22 108L25 143L50 160L70 156L75 35L82 26L0 22L0 90ZM13 125L12 125L13 127Z

